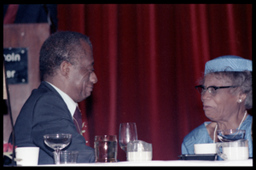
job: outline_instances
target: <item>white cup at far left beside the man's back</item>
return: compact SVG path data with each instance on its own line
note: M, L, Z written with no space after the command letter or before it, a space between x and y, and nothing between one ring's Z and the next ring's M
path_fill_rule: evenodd
M38 165L39 147L18 147L15 153L17 166Z

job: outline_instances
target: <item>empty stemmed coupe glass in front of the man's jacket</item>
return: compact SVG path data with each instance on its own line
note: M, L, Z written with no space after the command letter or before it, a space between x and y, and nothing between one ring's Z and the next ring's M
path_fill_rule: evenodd
M50 148L55 150L56 160L55 164L60 164L60 150L67 147L70 144L72 134L69 133L56 133L56 134L45 134L44 143Z

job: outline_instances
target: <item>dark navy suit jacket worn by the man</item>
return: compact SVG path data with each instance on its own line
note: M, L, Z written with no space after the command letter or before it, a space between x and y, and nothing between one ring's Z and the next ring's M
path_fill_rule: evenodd
M78 162L94 162L94 150L85 145L84 137L73 124L73 118L61 95L48 82L41 82L23 105L15 122L15 144L38 146L38 164L54 164L53 151L44 144L44 134L71 133L72 142L63 150L79 150ZM12 135L9 142L11 142Z

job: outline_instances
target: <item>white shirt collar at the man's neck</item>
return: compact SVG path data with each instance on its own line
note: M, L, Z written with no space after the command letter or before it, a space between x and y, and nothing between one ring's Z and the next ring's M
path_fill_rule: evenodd
M53 88L55 88L55 90L61 95L61 98L66 103L67 108L70 111L71 116L73 117L73 114L76 111L76 107L78 106L78 103L74 102L73 99L71 99L67 94L65 94L63 91L61 91L60 88L55 87L55 85L51 84L50 82L48 82L48 83Z

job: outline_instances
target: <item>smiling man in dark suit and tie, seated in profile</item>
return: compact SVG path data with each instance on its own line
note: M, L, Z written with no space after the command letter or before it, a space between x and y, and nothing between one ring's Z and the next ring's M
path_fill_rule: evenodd
M40 147L38 164L53 164L54 150L44 144L44 134L71 133L72 142L64 150L79 150L78 162L94 162L94 150L85 145L81 125L73 118L77 103L90 96L97 82L89 37L56 32L44 42L39 63L43 81L15 122L15 144Z

